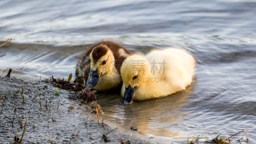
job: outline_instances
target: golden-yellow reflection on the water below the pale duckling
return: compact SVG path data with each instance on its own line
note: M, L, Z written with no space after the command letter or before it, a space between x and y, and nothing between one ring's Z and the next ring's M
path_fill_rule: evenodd
M104 110L104 117L123 125L127 129L131 126L138 128L143 134L152 134L162 137L176 137L186 134L172 131L172 127L180 127L182 120L188 118L187 111L180 111L188 103L190 94L196 82L193 82L185 91L178 92L165 98L136 102L130 105L123 104L119 91L98 93L97 102ZM182 127L180 127L182 128ZM183 137L181 136L181 137ZM186 137L188 137L186 135Z

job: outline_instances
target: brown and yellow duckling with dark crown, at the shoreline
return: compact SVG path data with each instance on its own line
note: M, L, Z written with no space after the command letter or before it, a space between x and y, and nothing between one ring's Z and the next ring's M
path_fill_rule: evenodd
M131 52L113 41L101 41L78 60L76 80L83 79L89 89L106 91L121 84L120 68Z

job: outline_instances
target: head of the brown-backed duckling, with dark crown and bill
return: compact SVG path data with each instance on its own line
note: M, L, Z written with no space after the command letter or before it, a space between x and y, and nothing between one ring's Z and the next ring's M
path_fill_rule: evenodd
M103 44L96 46L90 53L91 60L91 72L87 80L87 86L92 89L100 79L101 75L104 75L115 65L115 58L113 52Z

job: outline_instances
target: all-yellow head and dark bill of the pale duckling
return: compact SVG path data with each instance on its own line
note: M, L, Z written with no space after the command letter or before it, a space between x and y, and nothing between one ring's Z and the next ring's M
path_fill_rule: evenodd
M122 67L121 76L125 86L124 104L132 103L135 91L147 81L150 65L144 56L135 54L128 57Z

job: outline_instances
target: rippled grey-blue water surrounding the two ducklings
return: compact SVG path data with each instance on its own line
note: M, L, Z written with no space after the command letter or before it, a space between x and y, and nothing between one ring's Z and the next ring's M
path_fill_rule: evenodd
M256 140L256 1L0 1L0 67L68 77L83 51L112 39L133 52L180 47L197 60L186 91L124 105L99 92L111 121L174 142L230 136ZM231 140L245 138L241 134Z

